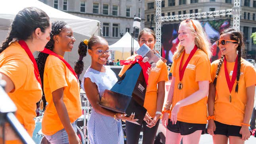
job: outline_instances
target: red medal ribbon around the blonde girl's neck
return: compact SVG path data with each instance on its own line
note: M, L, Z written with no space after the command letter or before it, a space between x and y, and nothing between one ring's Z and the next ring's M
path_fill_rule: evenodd
M191 58L192 58L192 56L194 55L194 53L196 53L196 50L197 50L197 46L194 45L193 50L190 52L188 59L186 60L184 66L183 66L182 69L181 69L182 61L183 61L183 58L184 58L184 55L185 55L185 52L186 52L186 51L184 50L184 53L183 53L183 55L182 55L182 57L181 57L181 63L179 64L179 81L182 80L183 75L184 75L184 73L185 73L185 69L186 69L187 65L189 64L189 61L191 60Z

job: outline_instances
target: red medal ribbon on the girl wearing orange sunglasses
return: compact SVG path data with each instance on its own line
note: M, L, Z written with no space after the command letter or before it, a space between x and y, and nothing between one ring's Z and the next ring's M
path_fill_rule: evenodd
M227 85L229 86L229 92L231 93L231 90L233 88L233 85L235 83L235 79L237 77L237 63L238 63L238 57L236 58L235 60L235 66L234 66L234 69L233 69L233 74L232 74L232 78L231 78L231 81L229 79L229 73L227 71L227 60L226 58L224 58L224 69L225 69L225 77L226 77L226 81L227 81Z

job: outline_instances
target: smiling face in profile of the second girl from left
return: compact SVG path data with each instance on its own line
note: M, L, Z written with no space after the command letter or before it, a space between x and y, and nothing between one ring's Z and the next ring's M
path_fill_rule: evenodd
M75 38L73 36L73 31L69 25L65 25L62 28L59 35L57 35L58 43L64 52L70 52L74 47Z

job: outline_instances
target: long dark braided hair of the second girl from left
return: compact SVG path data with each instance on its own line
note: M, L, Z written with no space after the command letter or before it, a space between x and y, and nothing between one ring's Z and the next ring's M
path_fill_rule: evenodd
M65 25L67 25L67 23L65 23L64 21L55 21L52 23L52 31L50 34L50 41L46 44L45 48L49 49L49 50L53 50L54 49L54 39L53 37L55 35L59 35L60 32L62 31L62 29L65 27ZM47 57L49 56L49 54L45 54L40 52L38 54L38 57L36 58L37 61L37 66L38 66L38 70L40 73L40 78L42 81L42 92L43 92L43 96L42 96L42 100L44 102L44 108L46 106L46 99L44 96L44 66L45 66L45 62Z

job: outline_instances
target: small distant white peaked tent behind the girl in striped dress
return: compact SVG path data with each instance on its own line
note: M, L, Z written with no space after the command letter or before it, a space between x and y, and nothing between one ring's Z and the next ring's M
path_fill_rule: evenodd
M116 51L122 52L122 58L123 58L124 52L131 52L131 40L132 40L131 35L128 32L126 32L125 35L123 35L123 37L121 37L114 44L110 45L109 48L110 50L116 50ZM137 40L134 40L133 46L134 46L134 51L140 48Z

